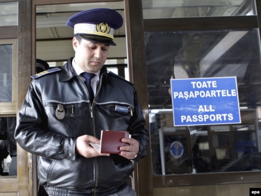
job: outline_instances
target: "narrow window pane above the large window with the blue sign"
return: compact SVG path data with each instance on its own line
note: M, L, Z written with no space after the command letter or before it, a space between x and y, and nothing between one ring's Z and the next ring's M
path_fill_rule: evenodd
M143 18L256 15L254 0L142 0Z

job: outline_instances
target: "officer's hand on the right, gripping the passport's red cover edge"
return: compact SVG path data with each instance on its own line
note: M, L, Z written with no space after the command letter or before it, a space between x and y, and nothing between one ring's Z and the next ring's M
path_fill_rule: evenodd
M119 155L127 158L132 159L134 158L139 151L139 142L134 138L122 138L121 142L128 143L127 146L120 146L120 153Z

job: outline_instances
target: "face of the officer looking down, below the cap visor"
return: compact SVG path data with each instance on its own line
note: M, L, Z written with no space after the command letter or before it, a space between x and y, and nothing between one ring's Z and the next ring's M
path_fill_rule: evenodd
M109 45L91 42L85 39L72 40L75 51L74 60L85 72L96 73L99 71L108 56Z

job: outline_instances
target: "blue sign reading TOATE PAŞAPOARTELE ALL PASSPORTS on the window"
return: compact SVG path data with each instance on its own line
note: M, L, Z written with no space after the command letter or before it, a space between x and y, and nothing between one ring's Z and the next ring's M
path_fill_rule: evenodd
M174 126L241 123L236 77L171 79Z

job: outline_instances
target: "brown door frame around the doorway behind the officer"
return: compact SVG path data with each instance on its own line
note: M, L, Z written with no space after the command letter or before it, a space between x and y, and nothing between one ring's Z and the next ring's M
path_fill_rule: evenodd
M32 0L32 34L31 34L31 62L32 72L35 72L36 60L36 6L45 4L66 4L66 3L88 3L88 2L115 2L123 1L125 10L125 28L126 28L126 44L128 67L130 81L134 84L143 83L144 85L136 85L139 100L144 110L146 122L149 122L148 115L148 99L147 99L147 77L145 64L145 49L143 39L143 17L141 0ZM148 125L147 125L148 126ZM37 179L37 162L36 156L32 156L32 186L33 196L37 196L38 179ZM149 178L148 178L149 177ZM134 189L138 196L153 195L152 187L152 167L150 144L148 145L148 153L145 158L135 163L133 172Z

